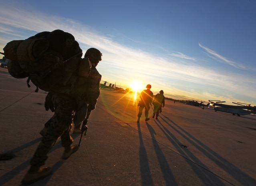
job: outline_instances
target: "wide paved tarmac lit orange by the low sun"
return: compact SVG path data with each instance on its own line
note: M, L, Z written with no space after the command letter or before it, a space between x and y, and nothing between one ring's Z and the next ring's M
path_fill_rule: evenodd
M0 161L1 186L21 185L52 116L46 92L34 90L0 68L0 154L13 155ZM58 140L45 165L52 174L31 186L256 186L256 116L166 100L159 120L151 109L137 123L137 101L101 90L79 150L62 160ZM80 134L72 137L78 144Z

